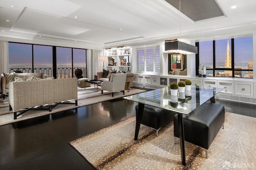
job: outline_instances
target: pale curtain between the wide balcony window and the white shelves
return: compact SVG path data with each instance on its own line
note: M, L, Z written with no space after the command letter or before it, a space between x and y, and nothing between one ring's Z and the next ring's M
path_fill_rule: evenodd
M92 77L94 77L94 75L97 75L97 72L101 71L101 68L103 66L100 67L100 56L104 55L104 51L103 50L97 50L97 49L93 49L92 50Z

